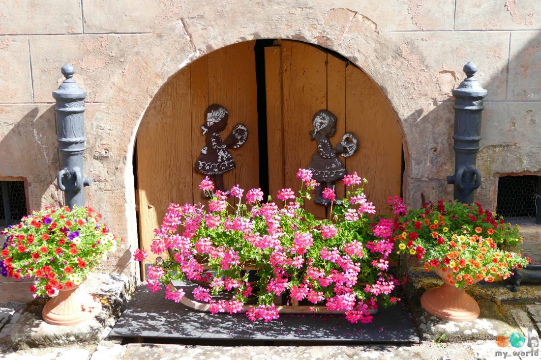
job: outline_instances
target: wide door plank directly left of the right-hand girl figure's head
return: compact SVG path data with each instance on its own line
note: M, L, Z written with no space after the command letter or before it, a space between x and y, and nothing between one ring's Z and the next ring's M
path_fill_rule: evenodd
M316 151L309 135L312 118L327 106L327 55L314 46L288 41L282 42L282 54L286 186L295 189L300 186L297 171L308 166ZM319 218L326 215L325 207L313 199L306 202L305 209Z

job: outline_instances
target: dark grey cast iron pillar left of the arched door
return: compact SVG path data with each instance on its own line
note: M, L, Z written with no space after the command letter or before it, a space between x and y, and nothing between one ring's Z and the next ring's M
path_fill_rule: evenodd
M58 150L62 154L62 170L58 171L58 188L64 191L66 204L84 206L84 186L90 179L83 176L83 154L86 149L84 136L84 98L87 92L73 79L75 68L71 64L62 66L65 80L52 92L56 99L56 132Z

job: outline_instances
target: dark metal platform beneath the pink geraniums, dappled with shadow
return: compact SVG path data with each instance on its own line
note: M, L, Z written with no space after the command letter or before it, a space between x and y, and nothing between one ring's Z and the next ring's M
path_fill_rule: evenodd
M188 294L193 286L183 283ZM213 339L285 342L419 342L411 314L398 304L380 309L370 324L349 323L343 315L280 314L278 320L250 322L242 314L200 312L164 299L141 286L110 336L124 338Z

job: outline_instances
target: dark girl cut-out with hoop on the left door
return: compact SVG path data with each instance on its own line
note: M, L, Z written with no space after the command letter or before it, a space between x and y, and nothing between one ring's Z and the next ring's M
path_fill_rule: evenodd
M238 149L248 138L245 125L237 124L231 134L222 141L220 132L227 126L229 111L222 105L212 104L205 110L205 120L201 126L205 136L205 146L195 161L194 170L213 178L216 190L223 192L223 174L235 169L233 156L227 149Z

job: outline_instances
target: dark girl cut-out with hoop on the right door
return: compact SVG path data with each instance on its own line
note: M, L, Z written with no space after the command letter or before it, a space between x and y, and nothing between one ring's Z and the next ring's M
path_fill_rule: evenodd
M311 140L315 140L318 144L318 149L307 166L308 170L312 171L314 180L319 183L315 188L314 199L318 205L327 206L331 203L323 198L323 189L325 187L334 189L334 183L347 175L347 170L338 155L352 156L358 147L357 138L351 132L346 132L342 141L333 148L329 138L336 132L336 123L337 117L331 111L320 110L312 119L314 130L309 132Z

